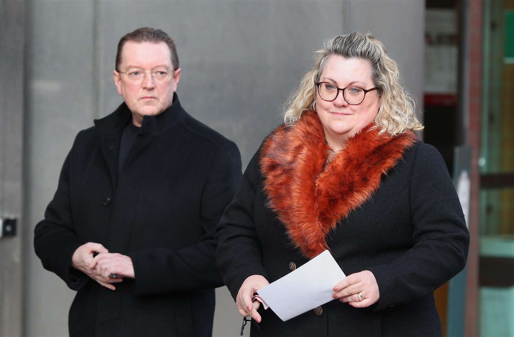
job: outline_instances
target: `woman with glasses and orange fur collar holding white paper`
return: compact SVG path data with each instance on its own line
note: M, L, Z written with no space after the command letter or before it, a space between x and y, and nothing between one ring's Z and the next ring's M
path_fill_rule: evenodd
M225 284L252 336L441 335L432 292L469 246L446 165L382 43L336 36L315 60L216 227ZM347 275L334 301L287 322L258 311L256 290L325 249Z

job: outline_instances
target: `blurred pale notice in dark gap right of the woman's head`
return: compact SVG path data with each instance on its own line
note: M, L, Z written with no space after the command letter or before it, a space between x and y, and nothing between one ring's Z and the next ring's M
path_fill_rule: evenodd
M453 9L425 11L425 93L457 92L458 38Z

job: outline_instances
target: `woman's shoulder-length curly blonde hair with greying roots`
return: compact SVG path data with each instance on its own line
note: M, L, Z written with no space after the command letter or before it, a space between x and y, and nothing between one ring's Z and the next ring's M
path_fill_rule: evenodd
M292 91L284 107L286 125L295 124L303 111L316 110L316 83L331 55L371 63L372 79L379 88L379 109L374 128L380 128L380 134L387 132L396 136L408 130L423 129L416 118L415 102L401 84L398 65L389 58L384 45L370 33L338 35L325 41L323 49L315 51L313 69L305 74L300 85Z

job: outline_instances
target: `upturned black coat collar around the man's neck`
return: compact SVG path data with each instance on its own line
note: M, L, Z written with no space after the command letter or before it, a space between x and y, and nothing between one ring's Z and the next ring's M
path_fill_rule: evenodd
M159 136L166 133L175 124L187 115L180 106L177 93L173 93L173 104L157 116L144 116L143 123L139 129L140 135ZM132 118L131 111L125 102L110 115L95 119L95 125L102 136L113 136L123 132L128 121Z

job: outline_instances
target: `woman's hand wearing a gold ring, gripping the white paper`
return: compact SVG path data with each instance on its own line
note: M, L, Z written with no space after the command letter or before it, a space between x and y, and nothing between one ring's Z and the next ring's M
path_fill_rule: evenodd
M376 303L380 298L377 280L369 270L346 276L334 286L332 297L341 302L348 302L352 307L365 308ZM359 293L362 301L359 300Z

